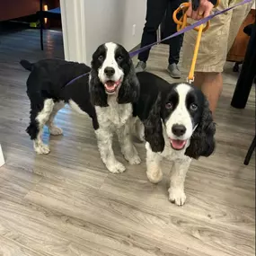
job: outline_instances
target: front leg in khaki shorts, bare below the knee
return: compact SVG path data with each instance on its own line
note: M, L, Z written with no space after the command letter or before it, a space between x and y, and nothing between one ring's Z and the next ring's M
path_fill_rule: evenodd
M225 6L224 4L220 4L220 10L227 6L227 3ZM227 54L231 17L232 11L226 15L216 16L212 20L209 29L202 35L195 67L194 85L199 87L207 96L209 108L213 114L215 113L216 105L223 89L222 71ZM187 64L188 69L190 69L196 38L196 31L192 31L184 37L183 61L186 62L188 58L190 59L190 63L188 62ZM188 46L189 40L190 46ZM188 48L190 48L189 52Z

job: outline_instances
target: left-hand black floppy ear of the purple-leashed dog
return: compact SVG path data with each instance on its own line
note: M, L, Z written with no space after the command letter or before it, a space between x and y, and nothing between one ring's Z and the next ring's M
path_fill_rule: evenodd
M94 106L108 107L108 97L105 93L104 86L100 81L97 72L92 69L89 78L89 88L91 94L91 102Z

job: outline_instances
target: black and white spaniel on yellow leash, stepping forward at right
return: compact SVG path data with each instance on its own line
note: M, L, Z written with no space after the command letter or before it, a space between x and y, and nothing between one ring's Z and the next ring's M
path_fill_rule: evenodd
M216 126L204 94L190 84L169 84L157 75L137 73L140 97L134 104L137 135L146 140L146 174L162 180L161 161L172 161L169 199L186 200L184 181L191 158L209 156L215 149Z

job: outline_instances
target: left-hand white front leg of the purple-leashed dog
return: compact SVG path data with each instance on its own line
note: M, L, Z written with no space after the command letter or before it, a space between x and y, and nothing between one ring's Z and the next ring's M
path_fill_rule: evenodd
M98 128L95 130L95 134L102 161L105 163L107 169L113 173L124 172L126 170L125 166L116 160L112 149L113 134L110 129Z

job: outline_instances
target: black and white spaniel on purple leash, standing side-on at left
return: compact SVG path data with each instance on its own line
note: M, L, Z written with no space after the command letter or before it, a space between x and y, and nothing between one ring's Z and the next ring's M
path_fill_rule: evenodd
M53 119L68 103L93 119L102 161L110 172L125 171L112 150L114 132L128 162L141 162L129 135L132 104L137 102L139 84L126 49L111 42L102 44L93 53L92 68L59 59L40 60L35 64L22 60L21 65L31 71L27 80L27 94L31 100L31 122L27 132L38 154L49 154L49 146L41 139L44 125L49 127L50 134L62 134ZM85 73L88 75L73 81ZM70 81L73 82L68 84Z

